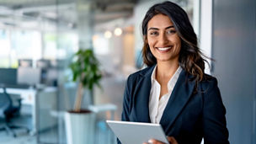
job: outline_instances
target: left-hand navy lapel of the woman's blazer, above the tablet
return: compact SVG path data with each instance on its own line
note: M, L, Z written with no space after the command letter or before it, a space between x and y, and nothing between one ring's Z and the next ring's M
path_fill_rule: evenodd
M151 75L154 67L149 67L147 72L141 72L139 81L136 84L134 109L136 113L136 121L150 123L148 103L151 90Z

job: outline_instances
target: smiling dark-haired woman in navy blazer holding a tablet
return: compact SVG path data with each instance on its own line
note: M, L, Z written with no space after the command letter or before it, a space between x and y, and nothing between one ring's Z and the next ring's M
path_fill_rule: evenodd
M171 2L153 5L142 33L147 68L127 79L122 120L160 123L170 143L229 143L216 78L204 73L205 59L184 10Z

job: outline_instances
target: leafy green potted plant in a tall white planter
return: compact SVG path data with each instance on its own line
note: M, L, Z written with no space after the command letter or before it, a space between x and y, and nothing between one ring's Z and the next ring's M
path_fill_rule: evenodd
M70 67L73 74L72 80L78 81L79 84L74 109L65 114L67 143L94 143L95 114L88 109L81 109L81 104L84 90L92 91L94 85L100 87L99 80L102 75L99 70L99 61L94 56L93 50L80 49L74 55L74 61Z

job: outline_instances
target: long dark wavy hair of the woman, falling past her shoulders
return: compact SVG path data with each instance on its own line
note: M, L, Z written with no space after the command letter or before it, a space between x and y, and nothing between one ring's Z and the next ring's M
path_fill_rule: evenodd
M152 55L147 43L147 24L153 16L162 13L167 15L173 22L173 26L178 32L181 40L181 48L179 52L179 66L186 72L194 76L197 82L205 79L205 59L197 45L197 37L192 25L189 22L189 17L183 8L172 2L163 2L153 5L146 13L142 21L142 34L144 45L142 48L142 56L144 63L151 67L157 64L156 58ZM206 56L205 56L206 57ZM211 58L210 58L211 59ZM207 61L206 61L207 62ZM207 62L208 63L208 62ZM209 63L208 63L209 64Z

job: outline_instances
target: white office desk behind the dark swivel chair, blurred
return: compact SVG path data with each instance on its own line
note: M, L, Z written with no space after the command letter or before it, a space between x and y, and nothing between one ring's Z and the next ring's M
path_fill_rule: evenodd
M35 135L37 131L54 125L49 120L40 120L40 109L56 109L57 88L44 88L42 90L35 88L6 88L6 92L10 95L20 95L22 99L21 113L32 116L31 135ZM0 88L0 93L3 93L2 88ZM26 106L29 106L30 109L24 109ZM45 121L45 123L41 125L40 121Z

